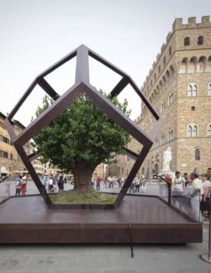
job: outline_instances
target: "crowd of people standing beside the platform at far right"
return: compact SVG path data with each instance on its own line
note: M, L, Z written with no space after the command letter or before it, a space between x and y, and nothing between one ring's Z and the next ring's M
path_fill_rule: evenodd
M175 172L175 178L166 175L166 181L172 185L172 205L176 206L179 203L179 208L182 205L186 206L189 213L196 220L208 222L210 217L210 192L211 192L211 168L207 168L205 173L199 174L193 171L188 175L185 172L183 175L179 171Z

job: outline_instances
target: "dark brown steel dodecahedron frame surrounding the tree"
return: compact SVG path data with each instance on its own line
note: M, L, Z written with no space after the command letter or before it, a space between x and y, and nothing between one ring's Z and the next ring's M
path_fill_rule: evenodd
M57 92L46 82L44 79L45 76L47 76L49 73L66 63L67 61L71 60L73 57L76 56L76 72L75 72L75 84L69 88L63 95L60 97L58 96ZM118 73L120 76L122 76L122 79L119 81L119 83L114 87L114 89L111 91L111 95L119 95L120 92L130 84L131 87L136 91L136 93L140 96L142 101L145 103L151 114L155 117L157 120L157 123L155 127L152 130L152 133L149 135L146 132L144 132L140 127L136 125L135 122L133 122L131 119L129 119L119 108L117 108L111 101L109 101L105 96L103 96L94 86L92 86L89 82L89 56L94 58L95 60L99 61L103 65L109 67L116 73ZM18 111L20 106L23 104L23 102L26 100L26 98L30 95L32 90L36 85L39 85L51 98L55 100L55 102L48 107L40 116L38 116L27 128L25 128L23 131L19 133L19 135L16 135L11 120L15 113ZM148 102L145 95L141 92L141 90L138 88L136 83L133 81L133 79L130 78L129 75L127 75L125 72L120 70L115 65L111 64L109 61L103 59L101 56L93 52L90 48L88 48L85 45L81 45L74 49L70 54L65 56L63 59L55 63L54 65L50 66L48 69L43 71L37 78L32 82L32 84L29 86L27 91L23 94L23 96L20 98L16 106L13 108L13 110L10 112L10 114L7 116L5 120L5 124L8 130L8 133L10 135L10 138L12 140L13 145L15 146L21 160L23 161L25 167L28 169L33 181L35 182L38 190L40 191L40 194L44 198L44 201L46 205L49 208L87 208L87 206L83 205L54 205L51 203L49 196L47 195L46 189L43 187L42 183L39 180L39 177L31 163L31 161L35 158L34 154L27 155L23 149L23 145L29 141L36 133L38 133L42 128L47 126L52 120L54 120L56 117L59 116L59 114L64 111L67 107L69 107L78 96L81 94L84 94L89 100L93 103L93 105L97 106L101 111L103 111L105 114L107 114L114 122L118 123L119 126L121 126L125 131L127 131L131 136L133 136L135 139L137 139L142 145L143 148L139 155L136 153L130 151L128 148L125 148L126 155L133 158L135 161L135 164L131 171L129 172L129 175L127 176L127 179L118 194L118 197L116 198L115 204L113 208L117 208L125 196L130 184L133 182L133 179L135 178L139 168L141 167L145 157L147 156L153 142L154 138L157 134L157 132L160 130L162 126L162 119L159 117L159 115L154 110L153 106ZM108 205L88 205L88 207L92 208L111 208L112 206Z

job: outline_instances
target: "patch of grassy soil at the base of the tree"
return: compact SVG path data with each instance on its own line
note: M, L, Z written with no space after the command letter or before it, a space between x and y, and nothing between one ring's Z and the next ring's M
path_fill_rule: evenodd
M78 192L74 190L48 194L48 196L53 204L114 204L117 198L117 194L97 191Z

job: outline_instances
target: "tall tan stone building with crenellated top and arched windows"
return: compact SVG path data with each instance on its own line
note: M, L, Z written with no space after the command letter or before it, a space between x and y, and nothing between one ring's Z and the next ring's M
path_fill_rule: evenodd
M205 171L211 166L211 22L203 16L183 24L175 19L172 32L157 54L156 61L142 86L142 92L163 119L163 126L139 173L151 175L153 169L163 168L163 154L171 147L171 170L190 173L197 168ZM147 133L155 125L147 107L142 103L137 124ZM133 139L131 150L141 147ZM134 160L124 164L130 170ZM112 168L112 166L111 166ZM110 166L109 166L110 169Z

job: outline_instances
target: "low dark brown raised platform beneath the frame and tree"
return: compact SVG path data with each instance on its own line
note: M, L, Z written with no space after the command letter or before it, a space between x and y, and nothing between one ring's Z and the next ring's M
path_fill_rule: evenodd
M126 195L115 210L48 209L40 195L11 197L0 205L0 243L202 242L191 222L158 197Z

